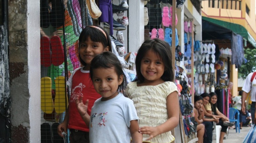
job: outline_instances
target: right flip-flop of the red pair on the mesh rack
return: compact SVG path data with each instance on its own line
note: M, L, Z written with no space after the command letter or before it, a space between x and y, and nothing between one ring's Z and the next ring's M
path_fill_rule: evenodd
M64 49L59 36L51 38L52 47L52 64L55 66L61 65L64 62Z

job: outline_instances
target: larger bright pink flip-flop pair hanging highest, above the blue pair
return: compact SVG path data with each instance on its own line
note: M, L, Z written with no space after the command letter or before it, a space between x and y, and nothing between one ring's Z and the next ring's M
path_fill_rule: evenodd
M163 26L165 27L169 27L171 26L172 27L172 18L173 18L173 15L172 15L172 7L163 7L162 9L162 23L163 23ZM178 19L177 19L177 14L175 14L175 25L177 25L178 23Z

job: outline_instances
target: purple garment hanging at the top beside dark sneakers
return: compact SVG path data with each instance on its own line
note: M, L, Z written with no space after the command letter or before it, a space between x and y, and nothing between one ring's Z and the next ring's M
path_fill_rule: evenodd
M113 35L113 11L111 0L99 1L99 9L102 12L99 17L100 22L107 22L110 25L110 34Z

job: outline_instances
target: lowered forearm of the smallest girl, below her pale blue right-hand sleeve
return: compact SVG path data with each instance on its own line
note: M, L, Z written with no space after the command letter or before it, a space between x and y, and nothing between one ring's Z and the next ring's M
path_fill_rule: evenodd
M139 133L138 120L131 120L130 124L130 133L133 143L142 143L142 134Z

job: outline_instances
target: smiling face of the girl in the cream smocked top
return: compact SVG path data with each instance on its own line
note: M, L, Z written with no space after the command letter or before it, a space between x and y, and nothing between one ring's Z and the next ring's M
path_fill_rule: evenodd
M145 53L141 59L140 72L145 78L144 83L147 85L158 85L164 81L161 76L164 73L164 63L159 54L152 50Z

